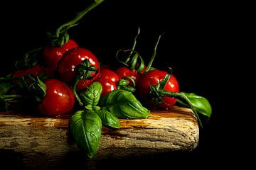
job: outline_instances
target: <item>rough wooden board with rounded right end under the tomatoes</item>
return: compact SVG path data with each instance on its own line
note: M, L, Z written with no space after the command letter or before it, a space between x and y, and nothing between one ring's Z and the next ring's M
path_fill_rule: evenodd
M23 164L30 166L46 166L45 162L61 162L68 154L82 154L70 137L69 120L70 115L43 118L0 112L0 150L21 153ZM93 159L191 151L198 145L198 122L189 108L152 110L147 119L120 119L120 124L119 130L103 125Z

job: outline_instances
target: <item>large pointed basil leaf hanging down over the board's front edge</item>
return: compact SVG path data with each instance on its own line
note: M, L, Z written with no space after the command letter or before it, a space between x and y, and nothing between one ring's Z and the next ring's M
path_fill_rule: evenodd
M70 131L78 147L95 157L100 143L102 121L94 111L77 111L70 118Z

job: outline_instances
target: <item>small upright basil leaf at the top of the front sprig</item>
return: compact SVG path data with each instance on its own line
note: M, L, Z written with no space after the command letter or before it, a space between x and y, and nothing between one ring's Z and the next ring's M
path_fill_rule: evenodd
M93 82L88 89L80 91L80 99L85 106L97 106L102 94L102 85L100 82Z

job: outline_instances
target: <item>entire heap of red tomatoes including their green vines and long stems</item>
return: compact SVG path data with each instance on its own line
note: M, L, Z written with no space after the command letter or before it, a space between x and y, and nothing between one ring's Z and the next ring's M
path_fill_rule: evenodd
M76 91L87 89L95 81L102 84L101 98L114 89L124 89L136 94L148 106L168 108L176 102L176 99L169 96L165 96L161 101L156 100L159 92L152 91L152 88L161 84L167 72L151 70L154 59L146 67L142 57L134 50L137 36L132 50L117 52L129 54L125 62L121 62L124 65L119 68L105 67L107 64L101 63L90 50L80 47L75 40L70 39L68 28L75 26L82 16L101 2L95 1L90 7L78 13L73 20L60 26L55 33L48 33L49 42L41 49L33 50L38 52L36 57L34 55L29 58L30 55L26 55L21 62L22 67L17 67L11 74L12 79L20 81L18 86L22 84L28 94L35 93L38 110L44 115L57 116L69 113L75 106L75 99L78 99L82 106ZM117 60L120 62L118 58ZM1 82L0 85L2 86ZM174 75L171 75L162 90L179 91L178 81ZM8 90L3 91L4 94ZM6 95L0 98L0 102L6 105L7 100L4 101L4 98Z

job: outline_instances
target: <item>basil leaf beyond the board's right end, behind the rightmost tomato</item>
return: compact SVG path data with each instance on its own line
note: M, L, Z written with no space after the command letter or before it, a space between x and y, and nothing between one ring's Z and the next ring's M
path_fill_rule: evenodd
M198 96L193 93L180 92L180 94L183 94L188 98L188 100L191 102L193 108L195 108L197 113L205 115L206 118L208 119L210 118L210 115L212 114L212 108L210 106L209 101L206 98ZM182 101L177 100L177 102L182 106L189 107L187 106L186 103L183 103Z

